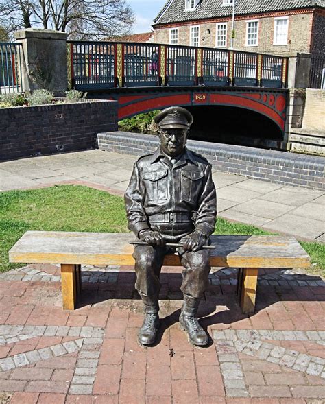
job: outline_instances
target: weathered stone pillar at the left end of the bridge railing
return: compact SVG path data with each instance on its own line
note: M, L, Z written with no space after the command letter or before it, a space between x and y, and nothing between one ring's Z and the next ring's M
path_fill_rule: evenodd
M60 93L67 91L67 34L49 29L27 28L15 33L23 43L23 88Z

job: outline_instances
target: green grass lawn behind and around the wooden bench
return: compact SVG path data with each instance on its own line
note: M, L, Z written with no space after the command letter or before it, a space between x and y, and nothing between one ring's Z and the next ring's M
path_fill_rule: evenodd
M254 226L219 218L216 234L267 235ZM119 233L128 231L123 198L82 186L63 185L0 193L0 271L18 268L8 263L8 250L27 230ZM311 255L309 272L325 276L325 246L301 243Z

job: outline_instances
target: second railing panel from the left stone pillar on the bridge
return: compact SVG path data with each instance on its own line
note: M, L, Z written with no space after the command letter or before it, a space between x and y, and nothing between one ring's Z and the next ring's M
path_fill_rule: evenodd
M125 86L153 86L158 83L158 45L126 43L124 47Z

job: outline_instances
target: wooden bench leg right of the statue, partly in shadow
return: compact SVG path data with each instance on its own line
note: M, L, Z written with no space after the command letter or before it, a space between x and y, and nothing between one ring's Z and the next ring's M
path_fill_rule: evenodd
M254 313L258 268L243 268L241 281L241 310L245 314Z

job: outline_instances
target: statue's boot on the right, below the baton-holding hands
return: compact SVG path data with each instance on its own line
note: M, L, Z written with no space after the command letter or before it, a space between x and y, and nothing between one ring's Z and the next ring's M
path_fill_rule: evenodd
M193 298L184 294L184 302L180 313L180 326L186 331L189 342L197 346L208 345L208 335L197 321L197 309L200 305L200 298Z

